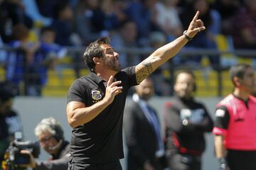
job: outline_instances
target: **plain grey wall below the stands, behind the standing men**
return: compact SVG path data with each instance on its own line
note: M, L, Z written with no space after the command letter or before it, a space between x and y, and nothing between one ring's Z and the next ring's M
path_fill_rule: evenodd
M131 98L127 98L127 105ZM161 118L161 113L163 109L163 103L169 101L170 98L152 98L150 103L157 111ZM209 113L212 118L215 111L215 105L220 101L220 98L198 98L198 101L206 104ZM14 101L14 109L18 111L21 115L21 121L23 123L23 136L24 140L36 141L36 136L33 133L33 129L36 127L37 123L43 118L48 118L53 116L63 125L65 131L65 138L70 139L71 128L68 125L66 113L65 113L66 98L23 98L18 97ZM203 155L203 170L215 170L218 169L218 162L214 157L213 152L213 135L209 134L206 136L207 148ZM124 151L126 148L124 147ZM46 152L41 149L40 159L48 159ZM122 160L122 165L124 165L125 159ZM124 167L125 170L125 167Z

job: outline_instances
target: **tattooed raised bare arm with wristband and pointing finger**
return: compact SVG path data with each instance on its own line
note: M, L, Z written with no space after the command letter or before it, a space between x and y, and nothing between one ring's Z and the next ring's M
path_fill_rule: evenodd
M135 72L138 84L148 77L149 74L154 72L155 69L164 64L164 62L171 59L171 57L174 57L174 55L186 45L189 39L193 38L201 30L206 29L206 27L203 26L203 21L198 19L198 16L199 11L196 12L196 15L188 26L188 30L183 35L176 38L176 40L159 47L159 49L154 51L149 57L136 66Z

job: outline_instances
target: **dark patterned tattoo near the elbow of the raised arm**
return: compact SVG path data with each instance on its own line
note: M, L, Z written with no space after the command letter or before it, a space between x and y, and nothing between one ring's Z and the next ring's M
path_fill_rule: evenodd
M142 62L142 66L137 69L137 73L136 73L137 84L140 84L152 72L153 72L153 68L151 66L151 62L148 62L148 61Z

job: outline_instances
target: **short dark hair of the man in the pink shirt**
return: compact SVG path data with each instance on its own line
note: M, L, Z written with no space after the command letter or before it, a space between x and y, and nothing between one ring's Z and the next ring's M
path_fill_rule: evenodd
M236 64L235 66L230 67L230 79L235 85L234 77L243 79L246 69L252 67L250 64Z

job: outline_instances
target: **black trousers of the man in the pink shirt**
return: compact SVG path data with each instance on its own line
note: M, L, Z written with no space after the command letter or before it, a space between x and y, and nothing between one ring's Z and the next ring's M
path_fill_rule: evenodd
M227 162L230 170L255 170L256 151L228 149Z

